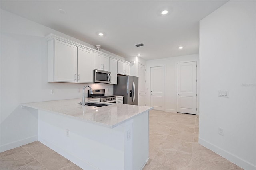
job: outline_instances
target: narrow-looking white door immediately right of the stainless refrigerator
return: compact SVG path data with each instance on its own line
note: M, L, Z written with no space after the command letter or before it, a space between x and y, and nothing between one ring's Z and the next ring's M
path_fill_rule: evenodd
M146 70L145 66L139 64L139 102L138 105L146 106Z

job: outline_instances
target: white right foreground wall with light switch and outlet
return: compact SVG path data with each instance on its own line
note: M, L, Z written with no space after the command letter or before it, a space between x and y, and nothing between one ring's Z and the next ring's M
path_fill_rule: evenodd
M231 0L200 21L199 143L248 170L256 169L255 70L256 1Z

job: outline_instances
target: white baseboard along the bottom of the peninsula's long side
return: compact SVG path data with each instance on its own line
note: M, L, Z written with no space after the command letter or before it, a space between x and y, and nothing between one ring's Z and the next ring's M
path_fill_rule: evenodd
M71 162L73 162L74 164L76 164L77 166L79 166L82 169L99 170L98 168L89 164L88 162L85 162L85 161L81 160L80 158L74 156L72 153L68 152L67 150L62 149L62 148L54 145L52 142L50 142L50 140L47 140L47 139L44 139L44 138L38 136L38 141L40 141L41 143L43 143L44 145L46 145L50 149L54 150L55 152L57 152L61 156L67 158L68 160L70 160Z

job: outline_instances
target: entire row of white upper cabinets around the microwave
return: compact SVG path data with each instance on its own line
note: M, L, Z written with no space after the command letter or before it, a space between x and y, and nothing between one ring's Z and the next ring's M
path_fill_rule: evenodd
M50 34L48 42L48 82L93 83L93 71L111 72L111 83L117 74L129 75L130 64L101 51Z

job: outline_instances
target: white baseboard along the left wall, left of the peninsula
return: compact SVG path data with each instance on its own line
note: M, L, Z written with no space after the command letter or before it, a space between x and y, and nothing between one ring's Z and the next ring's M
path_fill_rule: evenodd
M0 146L0 152L4 152L6 150L10 150L10 149L14 149L16 147L20 147L22 145L26 145L28 143L32 143L34 141L37 141L38 140L38 136L32 136L32 137L28 137L26 139L22 139L22 140L19 140L19 141L15 141L15 142L12 142L12 143L7 143L5 145L1 145Z

